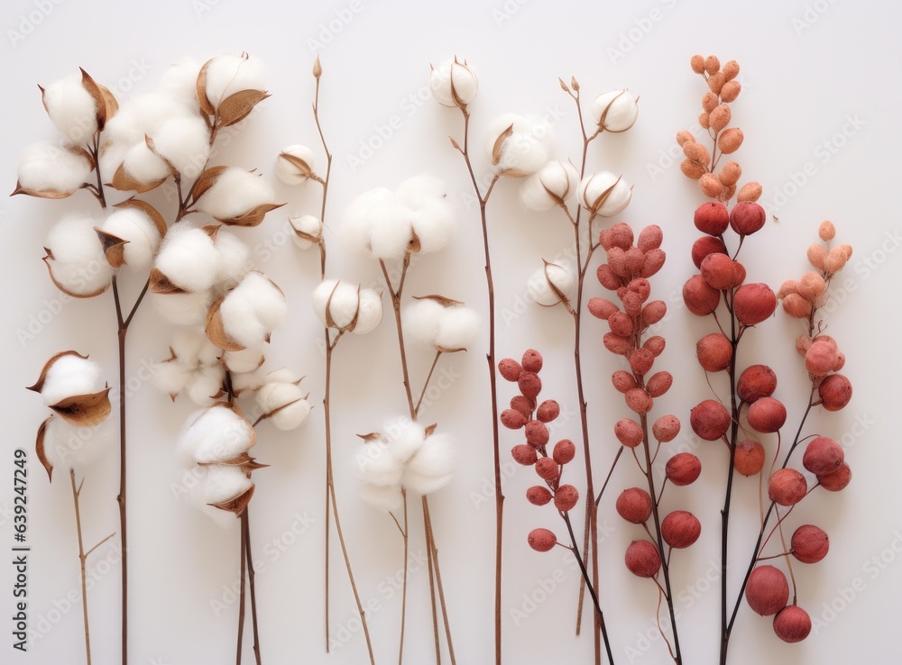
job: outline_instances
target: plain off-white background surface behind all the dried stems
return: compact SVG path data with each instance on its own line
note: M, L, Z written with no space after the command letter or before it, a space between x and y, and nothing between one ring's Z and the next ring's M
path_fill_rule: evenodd
M559 114L557 152L576 159L580 144L575 110L560 91L557 77L577 77L586 100L617 87L630 87L641 96L639 122L626 134L596 141L589 169L621 172L635 185L622 221L637 228L658 223L664 229L668 260L653 279L653 293L669 299L692 273L689 248L697 232L691 215L703 200L694 184L680 174L678 159L668 166L665 158L674 146L676 131L695 122L704 92L688 61L695 52L714 53L722 61L738 60L744 88L733 105L733 123L743 129L746 142L737 159L746 174L743 181L754 178L763 184L762 201L779 219L769 221L743 249L749 278L776 289L783 279L799 276L806 268L805 248L815 240L817 224L833 219L838 239L851 242L855 254L842 274L850 285L844 290L845 302L829 314L828 325L848 357L844 371L855 394L842 413L815 409L806 428L848 444L846 457L854 472L851 486L839 495L815 492L789 519L791 524L820 524L830 533L831 551L823 562L794 567L799 603L824 623L816 624L816 634L806 642L786 645L773 635L769 619L753 615L743 605L731 662L887 662L890 654L897 653L896 614L902 588L899 552L892 550L894 546L902 549L897 489L902 454L894 426L899 322L894 286L900 277L896 252L900 220L890 203L899 176L897 89L902 60L897 25L902 9L893 3L826 0L770 1L742 8L690 0L520 3L457 2L437 8L410 0L356 0L353 5L261 2L252 7L236 0L211 0L212 6L207 7L200 2L164 0L143 5L140 11L124 3L7 3L0 13L5 33L0 52L7 63L0 183L12 191L16 155L28 143L54 135L36 84L50 83L80 66L117 90L124 101L151 91L164 69L185 56L202 62L221 52L243 50L267 64L272 98L216 154L215 162L259 168L275 183L275 156L283 146L306 143L321 154L310 114L310 68L318 50L325 72L324 125L335 154L331 223L337 222L342 204L369 188L395 187L424 171L445 178L461 229L446 251L429 256L412 270L410 294L439 292L482 310L485 291L478 215L466 205L464 195L470 189L464 165L446 138L448 134L460 137L459 114L428 99L424 87L429 62L456 53L467 59L480 78L479 96L471 105L476 145L497 114ZM42 5L46 5L43 10ZM8 31L21 32L23 39ZM312 41L319 41L321 48ZM399 117L400 129L392 130L391 138L382 141L372 156L362 154L367 141L378 145L374 137L392 116ZM364 156L368 159L354 166L351 158ZM477 169L485 172L484 155L476 153L475 161ZM798 186L801 180L796 176L794 183L793 174L807 162L813 164L814 175ZM654 166L663 170L655 172ZM780 197L779 192L787 196ZM293 190L277 184L277 196L288 202L292 212L318 209L317 187ZM153 200L171 215L171 204L166 207L161 197ZM64 211L92 209L92 205L85 193L61 202L14 197L0 205L0 265L5 284L0 324L6 433L0 453L0 469L5 469L0 477L6 478L0 480L3 548L13 542L8 514L13 502L12 451L16 447L32 451L34 432L46 416L40 398L23 387L32 384L51 354L69 348L89 353L115 378L111 297L71 302L60 309L54 304L59 293L41 264L41 246L51 223ZM278 211L261 227L240 233L258 248L261 259L264 243L279 248L270 260L259 262L290 300L290 322L273 336L270 362L307 375L304 385L318 404L323 358L316 342L321 330L308 302L318 279L318 259L290 242L285 244L280 231L283 213ZM568 317L559 308L523 306L525 279L538 267L540 257L551 259L569 245L569 229L557 217L522 210L515 184L509 182L497 188L489 214L499 309L498 358L519 357L529 347L542 351L547 368L542 375L543 395L556 397L565 413L575 414ZM333 240L331 229L327 238ZM330 271L336 276L364 283L379 278L374 264L352 260L334 242L332 246ZM600 295L602 289L591 273L588 295ZM124 281L132 295L138 278ZM711 580L716 577L726 457L721 447L697 442L688 428L689 408L711 396L694 359L694 342L710 332L711 324L689 316L676 300L664 333L667 351L658 360L658 367L674 374L676 384L666 398L658 400L655 414L672 412L685 421L684 434L672 445L692 448L704 464L703 476L694 486L668 491L665 498L668 508L694 510L703 523L702 539L675 555L673 571L675 588L684 592L678 608L685 661L704 664L714 661L717 648L719 601ZM49 316L56 309L59 314ZM129 377L137 377L143 363L167 356L171 332L151 306L142 307L133 325ZM612 424L627 414L609 381L612 370L620 365L603 351L604 330L602 323L585 317L584 368L595 478L603 478L616 450ZM767 362L778 370L778 396L790 412L787 431L795 429L806 395L805 374L792 350L798 332L794 322L778 313L750 333L741 359L742 364ZM483 340L469 353L442 360L456 379L425 414L429 422L455 433L458 441L456 477L434 496L432 506L457 661L474 665L492 660L493 631L494 510L484 350ZM425 375L430 356L427 351L411 351L410 357L416 385ZM390 580L400 571L400 538L391 520L357 495L353 454L360 444L354 433L377 429L385 417L403 413L398 367L391 320L376 333L343 342L336 352L336 486L362 596L379 605L370 617L379 662L397 658L400 597L391 592ZM722 387L718 379L713 379L715 388ZM217 615L212 603L222 600L224 586L237 578L238 532L223 531L184 500L177 500L171 490L183 473L173 452L174 438L192 406L182 399L173 405L168 396L140 379L135 381L128 423L131 660L140 665L231 661L237 608L232 604ZM502 405L511 395L511 385L500 382ZM571 417L561 432L577 439L578 418ZM255 557L265 567L257 578L262 653L271 665L366 660L359 631L341 632L353 618L354 606L336 540L332 631L346 643L331 656L324 652L322 434L318 407L297 433L278 433L263 424L255 448L259 460L272 465L255 474L257 491L251 506ZM518 434L502 430L502 449L517 442ZM774 442L768 445L773 450ZM507 459L505 453L503 460ZM582 486L579 464L577 458L572 479ZM80 662L80 608L54 611L54 601L78 585L68 478L60 473L48 485L33 455L30 472L32 628L46 628L50 619L57 621L23 655L12 650L11 622L3 619L0 660ZM534 480L531 471L516 469L505 483L504 660L590 662L588 636L573 634L578 574L564 562L564 551L541 555L526 545L526 534L536 526L562 532L550 507L529 506L523 497ZM603 606L618 663L664 663L667 653L653 639L655 590L647 580L632 578L622 564L625 546L640 537L640 529L623 523L612 510L617 493L640 480L635 468L622 465L603 503L601 524L608 533L601 546ZM117 464L111 451L90 470L85 483L89 542L118 526L116 485ZM741 557L730 571L732 593L748 561L745 552L757 533L756 485L753 479L738 478L732 551L741 552ZM419 555L423 551L419 506L413 506L411 553ZM313 524L295 538L290 530L299 516ZM266 549L274 541L283 543L284 551ZM883 562L877 565L873 558L881 556ZM119 651L116 560L113 545L102 547L92 559L97 577L90 593L92 633L95 662L100 664L117 662ZM544 602L530 606L527 598L542 598L536 593L540 581L554 578L556 570L557 578L566 579ZM0 566L2 617L13 611L12 585L11 566ZM427 662L431 621L422 566L411 571L408 607L407 662ZM516 615L515 610L526 616ZM42 624L42 619L48 624ZM354 621L350 625L356 627ZM248 634L245 661L251 658L250 643Z

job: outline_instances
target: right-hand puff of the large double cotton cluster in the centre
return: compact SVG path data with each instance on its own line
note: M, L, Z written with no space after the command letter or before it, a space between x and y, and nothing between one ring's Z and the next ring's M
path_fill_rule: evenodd
M419 240L419 251L430 253L444 249L457 232L445 182L425 174L414 176L398 186L397 196L410 208L410 223Z

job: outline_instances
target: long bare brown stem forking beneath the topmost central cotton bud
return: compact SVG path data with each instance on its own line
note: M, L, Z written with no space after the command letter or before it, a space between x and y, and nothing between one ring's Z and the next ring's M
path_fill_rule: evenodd
M489 231L485 217L485 206L492 195L492 189L498 182L499 176L495 175L492 182L486 188L484 194L476 182L476 174L473 163L470 161L470 113L466 108L461 108L464 115L464 147L454 139L451 144L464 158L473 191L479 201L479 218L483 227L483 254L485 256L485 287L488 296L489 314L489 351L485 360L489 367L489 392L492 401L492 460L494 463L494 487L495 487L495 665L502 662L502 533L504 522L504 494L502 492L502 464L501 448L498 435L498 387L495 376L495 288L492 280L492 255L489 251Z

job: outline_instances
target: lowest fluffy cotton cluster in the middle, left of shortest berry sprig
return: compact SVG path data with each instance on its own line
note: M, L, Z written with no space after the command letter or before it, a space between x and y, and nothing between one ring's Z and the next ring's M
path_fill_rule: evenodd
M382 510L397 510L401 490L425 496L451 481L453 441L450 434L434 429L398 419L385 433L364 436L364 448L356 456L364 500Z

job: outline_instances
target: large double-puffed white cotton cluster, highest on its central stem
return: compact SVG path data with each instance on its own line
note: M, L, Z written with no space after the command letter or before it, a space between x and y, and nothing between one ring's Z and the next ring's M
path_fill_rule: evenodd
M343 218L339 240L345 249L378 260L439 251L457 230L445 183L427 175L404 180L394 192L376 187L357 196Z

